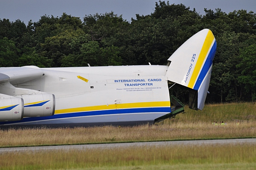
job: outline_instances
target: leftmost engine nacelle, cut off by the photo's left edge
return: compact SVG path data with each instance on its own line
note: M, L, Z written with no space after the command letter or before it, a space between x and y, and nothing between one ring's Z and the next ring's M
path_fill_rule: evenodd
M22 120L23 106L23 99L0 94L0 122Z

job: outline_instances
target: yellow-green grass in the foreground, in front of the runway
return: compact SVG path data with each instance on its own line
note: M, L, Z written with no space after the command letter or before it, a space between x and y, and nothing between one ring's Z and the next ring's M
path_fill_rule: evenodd
M0 154L0 170L36 169L226 169L256 166L256 145L203 145L88 149ZM234 165L233 165L234 167ZM185 168L184 168L185 169Z

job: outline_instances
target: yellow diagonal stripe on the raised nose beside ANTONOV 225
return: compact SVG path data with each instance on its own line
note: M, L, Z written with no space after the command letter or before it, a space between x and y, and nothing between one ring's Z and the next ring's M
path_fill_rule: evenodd
M207 52L209 51L211 45L212 45L212 41L214 40L214 35L212 34L212 31L208 31L208 34L205 38L205 41L203 43L203 47L202 47L202 50L199 54L199 58L196 62L196 65L194 67L194 71L193 71L193 74L190 78L190 83L188 85L188 87L190 88L193 88L194 87L194 83L196 82L196 78L198 77L199 75L199 71L203 65L203 61L207 55Z

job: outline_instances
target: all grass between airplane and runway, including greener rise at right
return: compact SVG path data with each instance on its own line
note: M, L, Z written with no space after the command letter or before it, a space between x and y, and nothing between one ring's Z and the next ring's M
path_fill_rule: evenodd
M0 146L256 137L256 105L253 103L206 105L203 111L186 110L187 113L175 119L153 126L1 130ZM216 126L212 125L213 121L227 124Z

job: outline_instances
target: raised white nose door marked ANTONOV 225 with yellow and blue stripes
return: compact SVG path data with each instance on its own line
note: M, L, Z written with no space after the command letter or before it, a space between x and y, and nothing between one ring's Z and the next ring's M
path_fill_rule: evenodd
M216 47L212 31L204 29L188 39L168 59L170 65L166 76L169 81L191 89L191 109L202 110L204 107Z

